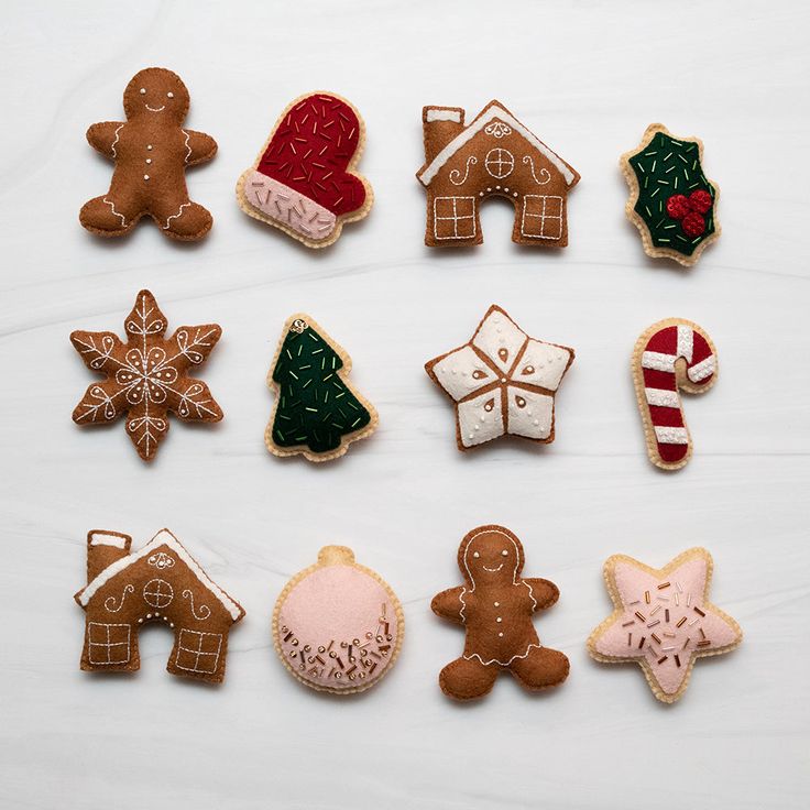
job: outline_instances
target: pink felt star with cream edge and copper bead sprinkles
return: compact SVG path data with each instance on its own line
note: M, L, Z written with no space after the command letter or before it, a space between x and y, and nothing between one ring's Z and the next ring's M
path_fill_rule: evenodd
M743 639L740 625L709 601L711 579L704 548L691 548L661 569L611 557L604 581L615 610L591 634L588 652L605 664L638 664L655 697L674 703L698 658L730 653Z

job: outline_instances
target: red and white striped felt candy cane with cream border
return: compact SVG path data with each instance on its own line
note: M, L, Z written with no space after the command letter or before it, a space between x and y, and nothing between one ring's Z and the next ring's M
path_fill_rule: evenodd
M647 453L656 467L679 470L692 455L678 391L702 394L716 379L716 350L697 324L667 318L638 338L633 352L633 381Z

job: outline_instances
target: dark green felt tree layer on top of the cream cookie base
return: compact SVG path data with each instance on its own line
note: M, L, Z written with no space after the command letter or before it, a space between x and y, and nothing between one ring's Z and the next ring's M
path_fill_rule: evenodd
M369 411L338 373L342 368L340 355L307 321L293 321L273 369L278 385L273 420L276 445L306 445L313 452L325 453L371 422Z

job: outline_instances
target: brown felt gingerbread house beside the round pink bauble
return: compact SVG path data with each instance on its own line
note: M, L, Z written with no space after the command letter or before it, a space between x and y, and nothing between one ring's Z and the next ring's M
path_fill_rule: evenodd
M132 672L140 668L138 633L161 624L174 633L166 669L218 683L225 677L228 634L244 610L212 582L168 530L132 551L118 532L87 535L87 584L81 669Z

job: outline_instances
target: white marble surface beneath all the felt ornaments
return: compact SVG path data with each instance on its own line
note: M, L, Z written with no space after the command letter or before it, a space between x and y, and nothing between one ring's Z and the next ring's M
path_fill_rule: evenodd
M801 2L2 3L0 30L0 806L8 808L803 808L808 790L807 107ZM220 152L189 173L216 223L205 243L143 222L99 242L77 222L110 166L84 139L121 113L141 67L177 70L189 125ZM375 205L310 253L250 220L233 185L278 110L335 89L362 111ZM492 204L485 244L424 248L420 108L507 103L582 174L571 245L518 250ZM723 237L683 272L645 260L616 167L650 121L699 134L722 187ZM120 329L141 287L171 324L216 319L205 379L214 429L175 422L151 467L113 429L70 412L91 375L74 328ZM422 364L463 342L497 302L537 337L576 347L557 441L462 456ZM377 434L316 469L262 442L278 330L305 309L354 359ZM627 369L636 336L682 315L720 352L721 379L687 402L696 456L676 475L644 452ZM438 689L462 634L431 615L459 581L457 545L484 522L523 538L527 573L559 583L544 641L568 682L526 696L508 677L482 703ZM138 544L171 527L248 611L226 683L164 671L166 633L135 677L79 671L85 533ZM286 579L344 543L405 603L388 678L358 700L300 688L269 624ZM715 601L743 646L699 663L685 700L658 704L635 667L592 663L609 611L601 563L715 558Z

